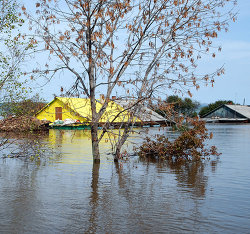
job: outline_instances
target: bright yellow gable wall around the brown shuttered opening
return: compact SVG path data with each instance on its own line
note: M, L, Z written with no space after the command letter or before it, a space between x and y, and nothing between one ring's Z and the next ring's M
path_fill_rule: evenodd
M40 120L46 119L51 122L54 122L56 120L56 107L62 107L62 120L65 119L76 119L80 120L81 122L86 122L86 119L77 115L73 111L71 111L70 108L67 108L67 106L59 101L58 99L55 99L53 102L48 104L41 112L36 114L36 117Z

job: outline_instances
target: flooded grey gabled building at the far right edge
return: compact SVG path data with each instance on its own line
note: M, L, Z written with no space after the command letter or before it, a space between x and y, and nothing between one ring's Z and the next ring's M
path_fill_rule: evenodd
M250 106L224 104L202 118L207 122L250 122Z

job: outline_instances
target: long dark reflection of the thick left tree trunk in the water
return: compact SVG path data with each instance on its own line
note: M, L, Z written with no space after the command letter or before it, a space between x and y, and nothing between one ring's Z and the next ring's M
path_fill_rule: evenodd
M100 169L100 163L93 163L93 169L92 169L92 183L91 183L91 196L90 196L90 207L91 207L91 213L89 217L89 228L87 229L86 233L96 233L97 230L97 218L98 218L98 200L99 200L99 194L98 194L98 181L99 181L99 169Z

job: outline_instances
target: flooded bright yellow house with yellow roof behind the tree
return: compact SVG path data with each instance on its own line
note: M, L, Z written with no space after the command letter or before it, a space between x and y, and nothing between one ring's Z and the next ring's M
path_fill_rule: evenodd
M102 104L96 101L97 111L102 107ZM115 120L118 113L121 113ZM91 105L90 99L85 98L68 98L56 97L53 101L48 103L43 109L36 113L36 117L40 120L49 120L54 122L56 120L79 120L81 123L91 122ZM130 112L124 110L121 105L118 105L113 100L108 103L107 109L103 114L100 122L127 122L131 118ZM138 118L133 119L134 122L141 122Z

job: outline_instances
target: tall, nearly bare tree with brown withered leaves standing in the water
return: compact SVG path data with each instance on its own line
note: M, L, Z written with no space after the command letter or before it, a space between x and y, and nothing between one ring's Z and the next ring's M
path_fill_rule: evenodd
M53 77L67 70L74 87L91 101L94 161L100 161L98 122L112 95L130 100L131 118L116 142L116 158L143 104L169 90L187 92L201 82L214 83L213 74L195 73L197 61L215 57L212 40L227 30L234 0L38 0L36 15L23 12L35 29L33 44L43 42L50 58L35 73ZM220 50L220 48L217 48ZM97 94L104 93L97 110ZM118 98L118 97L117 97Z

